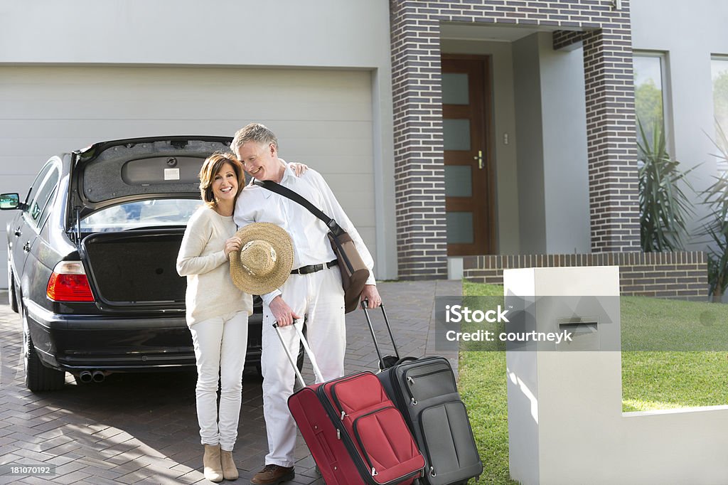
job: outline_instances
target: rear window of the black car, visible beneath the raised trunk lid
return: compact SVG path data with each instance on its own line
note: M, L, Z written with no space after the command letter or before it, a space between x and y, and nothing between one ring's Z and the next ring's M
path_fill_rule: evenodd
M186 226L201 200L157 199L104 208L81 220L82 232L124 231L155 226Z

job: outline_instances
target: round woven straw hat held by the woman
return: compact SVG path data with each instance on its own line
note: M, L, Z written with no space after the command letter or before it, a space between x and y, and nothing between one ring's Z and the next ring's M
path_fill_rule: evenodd
M293 242L290 235L269 222L248 224L235 233L242 244L231 251L232 282L245 293L269 293L285 283L293 268Z

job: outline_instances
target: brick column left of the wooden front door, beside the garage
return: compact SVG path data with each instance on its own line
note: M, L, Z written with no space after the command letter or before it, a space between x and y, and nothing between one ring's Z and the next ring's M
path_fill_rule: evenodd
M392 94L399 277L447 277L440 24L393 1Z

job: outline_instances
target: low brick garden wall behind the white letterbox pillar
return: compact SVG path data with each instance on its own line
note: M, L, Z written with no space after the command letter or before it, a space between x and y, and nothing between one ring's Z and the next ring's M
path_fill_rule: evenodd
M591 253L519 256L470 256L464 278L503 284L503 270L531 267L619 266L622 295L705 301L708 262L705 253Z

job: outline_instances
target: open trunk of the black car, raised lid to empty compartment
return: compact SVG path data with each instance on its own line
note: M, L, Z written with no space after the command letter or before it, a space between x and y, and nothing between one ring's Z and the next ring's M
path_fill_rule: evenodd
M231 139L130 138L74 152L66 230L102 310L182 311L175 268L185 225L202 202L199 169Z

